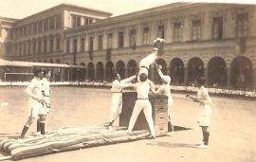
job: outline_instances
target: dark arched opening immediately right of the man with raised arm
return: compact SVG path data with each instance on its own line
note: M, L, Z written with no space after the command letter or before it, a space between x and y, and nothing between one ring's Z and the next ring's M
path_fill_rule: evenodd
M179 58L174 58L170 65L171 83L174 85L184 84L184 63Z

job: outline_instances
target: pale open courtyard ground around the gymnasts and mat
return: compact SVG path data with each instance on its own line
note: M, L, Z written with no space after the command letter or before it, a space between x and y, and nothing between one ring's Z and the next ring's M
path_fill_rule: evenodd
M26 87L0 87L0 133L21 132L27 120ZM111 92L106 88L51 87L51 110L46 129L86 126L108 121ZM194 94L193 94L194 95ZM252 162L256 161L256 100L211 96L213 101L210 148L200 150L195 143L202 139L196 123L195 104L184 94L173 93L174 125L190 130L173 136L141 139L134 142L53 153L21 161L26 162ZM119 120L114 125L118 126ZM28 132L35 132L34 123ZM0 155L7 155L3 151ZM11 160L6 160L11 161Z

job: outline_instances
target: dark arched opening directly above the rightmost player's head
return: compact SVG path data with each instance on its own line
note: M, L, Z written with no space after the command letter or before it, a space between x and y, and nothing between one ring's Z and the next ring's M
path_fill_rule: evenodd
M199 58L192 58L188 63L188 82L192 85L196 77L204 76L204 63Z

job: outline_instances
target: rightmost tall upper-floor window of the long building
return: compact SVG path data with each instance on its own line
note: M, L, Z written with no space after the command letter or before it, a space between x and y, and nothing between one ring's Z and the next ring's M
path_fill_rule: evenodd
M237 15L237 36L248 36L248 13Z

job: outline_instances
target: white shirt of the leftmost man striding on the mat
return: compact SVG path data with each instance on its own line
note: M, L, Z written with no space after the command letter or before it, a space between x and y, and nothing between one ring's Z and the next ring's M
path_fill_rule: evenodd
M42 99L42 90L42 81L39 78L34 77L32 81L30 81L30 83L28 84L25 92L31 98Z

